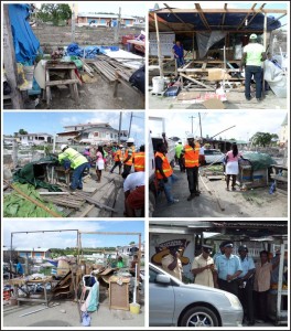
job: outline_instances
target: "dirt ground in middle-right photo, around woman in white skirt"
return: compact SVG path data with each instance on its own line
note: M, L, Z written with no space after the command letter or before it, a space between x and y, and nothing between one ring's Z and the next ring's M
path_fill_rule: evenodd
M207 189L200 179L201 195L187 201L186 173L177 167L174 173L179 181L173 184L172 193L179 202L168 206L164 194L160 194L153 217L288 217L288 195L269 194L269 186L245 192L237 186L237 191L226 191L224 180L208 181L203 177Z

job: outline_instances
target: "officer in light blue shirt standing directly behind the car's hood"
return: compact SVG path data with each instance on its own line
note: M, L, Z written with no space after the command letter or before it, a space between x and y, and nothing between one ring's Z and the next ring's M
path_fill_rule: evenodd
M242 268L238 256L233 254L233 248L234 244L231 242L225 243L225 254L216 258L215 267L217 269L219 289L238 296L236 279L242 273Z

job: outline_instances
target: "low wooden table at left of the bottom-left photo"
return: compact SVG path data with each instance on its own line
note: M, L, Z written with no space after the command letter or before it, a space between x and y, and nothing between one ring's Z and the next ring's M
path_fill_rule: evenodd
M20 301L41 302L41 303L45 303L46 306L48 306L51 298L48 298L48 296L47 296L46 285L51 284L51 288L52 288L52 281L53 281L52 277L45 277L43 279L13 278L13 279L10 279L9 282L10 282L10 285L12 285L14 287L14 296L15 296L15 299L18 300L19 306L20 306ZM32 286L32 285L42 285L43 286L44 298L32 298L31 292L29 290L22 289L23 286L28 287L28 286ZM25 297L19 297L19 289L21 289L25 293Z

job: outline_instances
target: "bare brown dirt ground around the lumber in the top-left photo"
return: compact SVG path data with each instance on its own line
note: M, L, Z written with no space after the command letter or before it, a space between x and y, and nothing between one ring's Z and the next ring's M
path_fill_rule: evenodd
M56 46L67 46L72 43L71 26L53 26L42 24L33 28L34 34L40 40L44 54L51 54ZM118 45L121 49L122 35L139 35L141 29L123 28L120 30ZM53 36L53 38L52 38ZM76 26L75 43L86 45L116 45L112 28ZM144 109L144 98L130 87L119 84L117 97L114 98L114 86L101 75L94 73L93 83L78 85L79 105L69 95L69 88L52 88L52 104L50 109ZM26 108L34 108L31 103ZM45 100L40 99L36 109L46 109Z

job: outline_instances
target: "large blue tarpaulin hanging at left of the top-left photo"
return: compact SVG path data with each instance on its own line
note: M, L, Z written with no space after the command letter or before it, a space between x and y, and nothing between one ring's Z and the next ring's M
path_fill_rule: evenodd
M9 18L12 29L17 62L32 65L41 52L40 42L34 35L29 21L29 4L9 4Z

